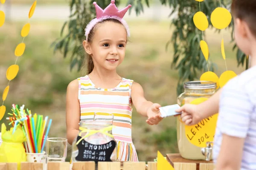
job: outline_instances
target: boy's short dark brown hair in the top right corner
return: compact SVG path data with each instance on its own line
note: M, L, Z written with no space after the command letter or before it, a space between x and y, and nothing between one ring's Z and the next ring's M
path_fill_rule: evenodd
M232 0L232 15L246 22L256 37L256 0Z

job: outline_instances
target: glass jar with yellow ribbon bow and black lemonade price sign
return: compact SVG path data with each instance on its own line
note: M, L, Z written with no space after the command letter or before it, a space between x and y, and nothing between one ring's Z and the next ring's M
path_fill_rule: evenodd
M72 163L76 161L116 161L117 145L112 122L81 121L79 134L72 144Z

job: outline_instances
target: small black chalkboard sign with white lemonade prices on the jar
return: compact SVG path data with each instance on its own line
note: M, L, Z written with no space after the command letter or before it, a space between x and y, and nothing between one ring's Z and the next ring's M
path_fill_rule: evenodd
M81 136L77 136L77 141L81 139ZM76 156L77 161L111 161L110 157L113 150L116 147L115 141L110 141L106 144L90 144L85 140L81 140L78 147L78 156Z

